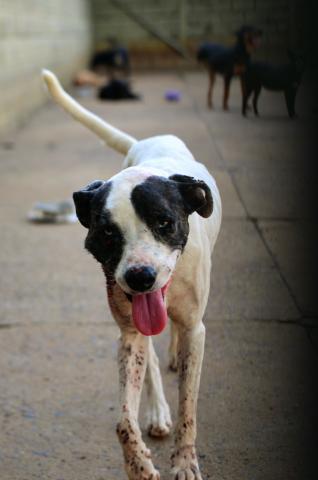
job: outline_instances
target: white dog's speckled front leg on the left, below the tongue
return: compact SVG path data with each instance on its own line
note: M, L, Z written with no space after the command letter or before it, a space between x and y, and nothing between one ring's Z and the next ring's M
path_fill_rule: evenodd
M150 451L142 440L138 411L148 357L148 337L122 331L119 344L119 382L121 417L117 434L121 443L125 468L130 480L159 480Z

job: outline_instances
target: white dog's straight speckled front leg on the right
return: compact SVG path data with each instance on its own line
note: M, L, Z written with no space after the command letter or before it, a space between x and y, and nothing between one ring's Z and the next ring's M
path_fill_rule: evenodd
M195 451L196 410L204 352L203 323L179 328L179 418L175 451L171 456L174 480L202 480Z

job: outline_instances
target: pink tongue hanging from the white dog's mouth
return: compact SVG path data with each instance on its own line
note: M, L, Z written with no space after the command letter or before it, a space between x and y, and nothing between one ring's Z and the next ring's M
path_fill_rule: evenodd
M168 320L161 290L132 297L132 316L135 327L143 335L158 335Z

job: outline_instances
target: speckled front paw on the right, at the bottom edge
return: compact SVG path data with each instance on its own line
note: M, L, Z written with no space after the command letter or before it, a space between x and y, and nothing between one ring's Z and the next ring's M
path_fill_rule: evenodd
M202 480L195 447L186 445L171 456L172 480Z

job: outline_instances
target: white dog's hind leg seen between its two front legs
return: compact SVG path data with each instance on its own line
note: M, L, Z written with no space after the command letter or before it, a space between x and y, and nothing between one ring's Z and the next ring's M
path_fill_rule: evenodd
M148 391L148 433L152 437L165 437L170 433L172 422L170 408L163 391L159 360L151 337L149 338L146 384Z

